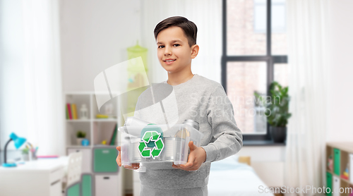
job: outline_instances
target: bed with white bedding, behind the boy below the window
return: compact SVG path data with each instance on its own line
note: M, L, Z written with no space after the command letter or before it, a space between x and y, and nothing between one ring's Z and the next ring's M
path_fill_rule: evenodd
M250 157L234 155L211 164L208 180L209 196L273 196L272 193L261 193L265 188L268 186L250 166Z

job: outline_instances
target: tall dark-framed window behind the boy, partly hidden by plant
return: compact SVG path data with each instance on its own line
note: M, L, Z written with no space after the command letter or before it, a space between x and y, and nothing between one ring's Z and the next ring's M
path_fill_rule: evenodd
M254 94L288 85L285 0L223 0L222 11L222 85L244 140L270 140Z

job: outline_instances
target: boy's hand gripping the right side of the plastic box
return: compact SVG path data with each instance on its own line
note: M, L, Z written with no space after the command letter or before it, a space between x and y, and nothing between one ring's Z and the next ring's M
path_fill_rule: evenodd
M196 171L201 167L201 164L206 161L206 152L202 147L196 147L193 142L189 142L190 154L188 162L180 166L174 165L176 169L182 169L185 171Z

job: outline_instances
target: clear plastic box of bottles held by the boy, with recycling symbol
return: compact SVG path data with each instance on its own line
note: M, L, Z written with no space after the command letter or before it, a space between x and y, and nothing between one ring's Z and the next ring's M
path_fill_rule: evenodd
M174 162L186 164L189 142L200 147L203 133L187 124L120 127L121 164Z

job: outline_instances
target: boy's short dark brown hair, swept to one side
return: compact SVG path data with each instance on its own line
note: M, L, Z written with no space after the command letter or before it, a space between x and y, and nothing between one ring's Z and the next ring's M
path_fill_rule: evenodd
M160 21L160 23L155 26L155 39L157 40L158 33L169 27L181 27L185 37L188 39L189 46L191 47L196 44L198 27L196 27L195 23L181 16L172 16Z

